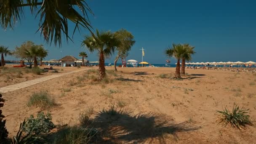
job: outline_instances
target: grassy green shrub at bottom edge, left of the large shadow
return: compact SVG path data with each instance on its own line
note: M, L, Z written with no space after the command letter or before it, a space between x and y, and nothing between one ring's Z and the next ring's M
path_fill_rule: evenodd
M53 144L88 144L97 133L96 128L66 127L57 133Z

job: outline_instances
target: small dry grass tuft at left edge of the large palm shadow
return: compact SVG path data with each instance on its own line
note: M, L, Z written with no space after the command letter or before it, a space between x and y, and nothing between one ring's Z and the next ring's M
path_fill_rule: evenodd
M83 127L87 127L90 122L90 117L93 114L93 107L90 107L79 113L79 122Z

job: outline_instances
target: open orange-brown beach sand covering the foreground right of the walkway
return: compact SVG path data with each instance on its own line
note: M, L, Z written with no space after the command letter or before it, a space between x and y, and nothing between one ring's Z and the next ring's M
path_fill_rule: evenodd
M250 109L249 115L255 120L255 74L186 69L188 75L183 80L160 77L174 72L175 68L118 68L114 75L108 74L114 80L111 83L99 84L85 78L70 86L78 76L87 75L84 71L5 93L6 127L10 136L15 135L24 118L41 111L27 106L29 96L47 90L58 104L44 110L51 112L53 123L78 121L81 111L93 107L96 115L92 119L108 131L105 143L255 143L255 127L239 131L216 123L216 110L225 106L232 109L234 103ZM64 92L64 88L71 91ZM113 104L120 112L109 124L102 110Z

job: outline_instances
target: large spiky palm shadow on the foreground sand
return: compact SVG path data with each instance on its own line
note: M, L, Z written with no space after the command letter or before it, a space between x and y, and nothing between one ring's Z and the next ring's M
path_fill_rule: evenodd
M163 134L172 134L178 139L176 132L194 131L199 127L192 123L174 123L171 118L157 113L132 115L126 110L102 110L96 113L93 123L104 133L104 143L132 142L152 143L154 139L162 139Z

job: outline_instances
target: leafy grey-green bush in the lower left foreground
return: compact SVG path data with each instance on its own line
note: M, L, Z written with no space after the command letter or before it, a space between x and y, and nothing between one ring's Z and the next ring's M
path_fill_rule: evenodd
M25 124L24 131L29 133L33 129L35 135L48 133L54 128L54 124L51 120L52 117L49 112L46 115L44 115L43 112L39 112L36 118L30 115Z

